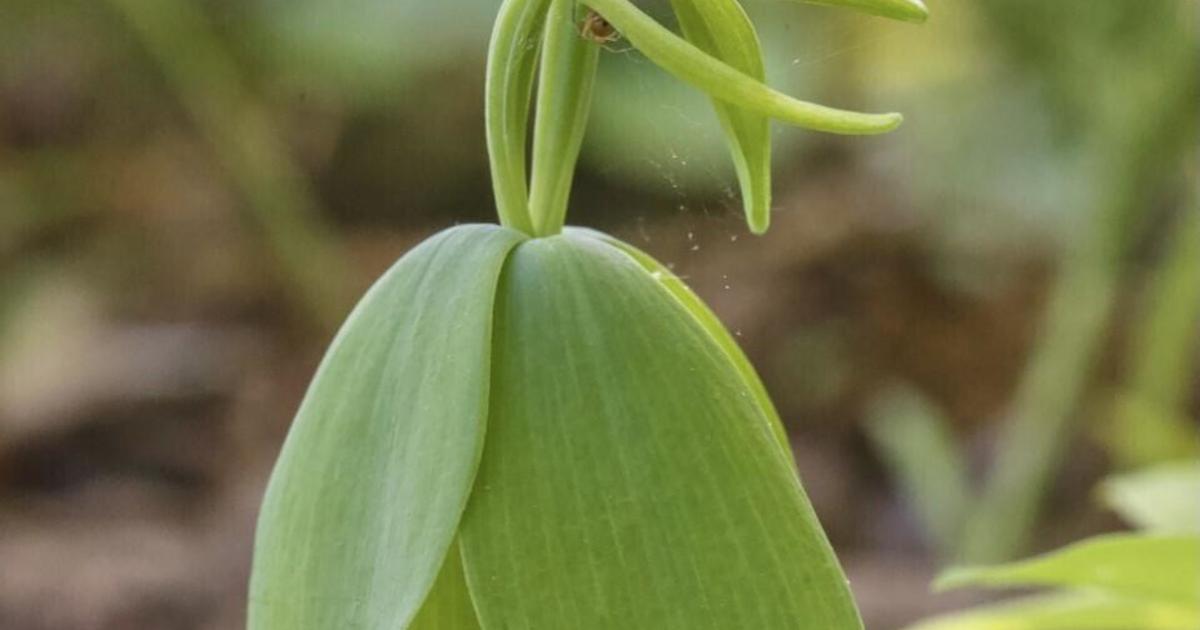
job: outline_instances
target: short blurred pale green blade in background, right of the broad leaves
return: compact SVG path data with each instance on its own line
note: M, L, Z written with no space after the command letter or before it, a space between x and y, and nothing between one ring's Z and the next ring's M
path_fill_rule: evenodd
M958 548L971 502L967 464L949 426L930 401L908 386L893 388L872 401L865 424L868 437L942 557Z

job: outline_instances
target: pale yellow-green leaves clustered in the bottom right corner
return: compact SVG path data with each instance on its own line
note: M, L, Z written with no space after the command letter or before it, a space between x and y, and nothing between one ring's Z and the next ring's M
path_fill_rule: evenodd
M1102 497L1142 532L1030 560L947 571L940 588L1056 587L910 630L1184 630L1200 625L1200 463L1123 475Z

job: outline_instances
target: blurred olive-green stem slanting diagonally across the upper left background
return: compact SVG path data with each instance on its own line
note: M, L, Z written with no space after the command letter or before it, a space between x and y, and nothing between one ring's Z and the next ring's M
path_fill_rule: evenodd
M217 158L290 281L295 299L329 330L346 314L343 257L325 236L319 208L280 139L271 115L250 97L236 64L194 2L109 0L132 28Z

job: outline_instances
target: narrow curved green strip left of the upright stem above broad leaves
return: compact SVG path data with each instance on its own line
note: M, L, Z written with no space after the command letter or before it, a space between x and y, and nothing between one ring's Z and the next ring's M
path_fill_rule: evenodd
M487 54L485 119L500 223L533 234L526 144L529 101L550 0L505 0Z

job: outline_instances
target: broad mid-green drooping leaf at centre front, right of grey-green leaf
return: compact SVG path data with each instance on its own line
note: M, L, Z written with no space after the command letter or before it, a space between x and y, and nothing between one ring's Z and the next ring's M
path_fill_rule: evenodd
M755 396L644 269L530 240L497 304L461 528L484 628L860 628Z

